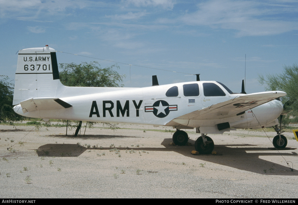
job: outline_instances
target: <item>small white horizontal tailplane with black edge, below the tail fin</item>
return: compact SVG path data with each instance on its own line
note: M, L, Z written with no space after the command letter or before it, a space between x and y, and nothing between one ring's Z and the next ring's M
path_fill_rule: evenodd
M59 98L29 98L20 102L23 113L34 110L62 109L72 107Z

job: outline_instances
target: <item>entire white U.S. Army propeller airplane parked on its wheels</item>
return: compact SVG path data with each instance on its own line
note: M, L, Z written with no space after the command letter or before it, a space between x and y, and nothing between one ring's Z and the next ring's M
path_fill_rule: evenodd
M198 79L199 80L199 79ZM243 86L244 87L244 86ZM206 134L235 129L276 126L283 104L276 100L282 91L233 93L215 81L194 81L142 88L67 87L59 80L53 48L28 48L18 52L13 96L14 111L32 118L136 123L177 129L173 142L185 145L189 139L181 129L196 129L200 154L213 151ZM287 139L276 129L273 143L283 148Z

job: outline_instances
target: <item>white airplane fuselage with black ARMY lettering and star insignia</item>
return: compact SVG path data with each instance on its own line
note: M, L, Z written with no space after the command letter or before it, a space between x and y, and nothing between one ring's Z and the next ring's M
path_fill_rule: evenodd
M205 96L204 83L214 84L213 86L220 88L220 92L217 93L221 96ZM186 91L185 86L193 86L197 91L193 93ZM221 84L214 81L175 83L143 88L118 88L119 90L117 88L104 88L104 92L101 88L98 88L98 93L96 93L96 88L89 88L90 90L93 89L93 93L86 95L80 95L80 93L86 93L87 91L84 90L88 89L87 87L66 87L63 85L60 85L60 87L63 92L58 93L55 97L71 103L72 107L67 109L41 109L23 113L20 105L18 105L14 110L20 115L34 118L137 123L191 129L214 127L226 121L229 121L233 128L266 126L268 123L274 122L283 109L280 101L273 100L252 110L247 110L238 116L225 118L224 113L222 113L222 116L218 116L218 119L206 118L193 122L190 120L186 124L178 120L177 123L171 120L244 94L230 94ZM71 96L70 93L76 95ZM252 103L250 102L250 104ZM236 108L243 106L246 105L235 104ZM208 133L212 133L212 130L209 129Z

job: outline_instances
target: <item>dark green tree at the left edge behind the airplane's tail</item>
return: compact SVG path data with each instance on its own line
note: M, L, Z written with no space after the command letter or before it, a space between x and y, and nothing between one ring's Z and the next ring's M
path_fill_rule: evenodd
M0 123L23 120L23 116L13 111L13 84L8 76L0 75Z

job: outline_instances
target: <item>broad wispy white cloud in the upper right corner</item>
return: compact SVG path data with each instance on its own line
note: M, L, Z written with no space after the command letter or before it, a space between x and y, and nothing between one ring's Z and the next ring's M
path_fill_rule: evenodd
M283 9L281 9L283 8ZM269 5L262 1L212 0L198 4L198 10L182 17L185 24L234 29L237 37L275 35L298 30L295 20L285 21L284 15L296 13L291 5Z

